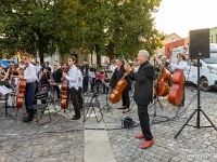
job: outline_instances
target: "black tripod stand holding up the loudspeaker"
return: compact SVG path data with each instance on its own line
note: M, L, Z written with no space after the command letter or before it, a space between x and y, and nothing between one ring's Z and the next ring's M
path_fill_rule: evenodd
M200 112L202 112L205 118L208 120L208 122L212 124L212 126L217 131L217 127L214 125L214 123L210 121L210 119L206 116L206 113L201 109L201 90L200 90L200 58L197 58L197 108L191 113L187 122L181 126L181 129L178 131L178 133L175 135L175 139L178 137L178 135L181 133L181 131L184 129L186 125L188 125L189 121L193 118L193 116L196 113L196 129L200 129ZM190 125L191 126L191 125ZM202 127L212 127L212 126L202 126Z

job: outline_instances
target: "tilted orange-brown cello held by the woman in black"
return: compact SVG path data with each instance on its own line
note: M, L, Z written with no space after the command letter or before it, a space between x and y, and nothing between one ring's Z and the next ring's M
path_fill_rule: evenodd
M123 78L117 82L115 89L110 95L108 99L111 103L116 104L120 100L123 91L127 87L127 81L124 79L127 76L127 72L124 73Z

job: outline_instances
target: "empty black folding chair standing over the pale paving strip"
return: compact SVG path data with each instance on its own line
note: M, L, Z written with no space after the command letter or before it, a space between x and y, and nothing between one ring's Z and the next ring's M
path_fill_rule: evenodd
M91 98L88 100L88 102L85 102L82 107L84 107L84 111L87 109L87 112L84 113L84 123L89 119L89 117L91 116L91 112L93 112L93 116L95 117L95 120L97 122L99 123L101 120L104 121L103 119L103 114L102 114L102 111L100 109L100 103L98 100L98 96L99 96L99 93L98 92L94 92L91 96ZM95 112L95 108L99 108L100 109L100 113L101 113L101 119L99 120L98 119L98 114Z

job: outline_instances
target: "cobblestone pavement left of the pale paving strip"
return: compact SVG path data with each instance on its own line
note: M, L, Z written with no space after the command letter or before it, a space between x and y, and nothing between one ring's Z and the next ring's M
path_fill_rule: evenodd
M13 108L8 111L15 116ZM0 113L4 113L4 109L0 109ZM17 122L11 117L0 117L0 162L84 161L81 122L58 113L52 116L50 123L38 126L36 122L23 123L23 116L25 110L22 108ZM47 120L48 114L42 122Z

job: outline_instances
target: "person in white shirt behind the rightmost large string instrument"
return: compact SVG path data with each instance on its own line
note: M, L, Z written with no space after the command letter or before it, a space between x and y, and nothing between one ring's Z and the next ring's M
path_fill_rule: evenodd
M183 73L186 73L187 67L188 67L188 63L187 63L187 57L184 56L184 54L179 53L177 54L177 65L170 65L171 67L171 71L175 72L176 69L181 69L183 70ZM180 106L184 106L184 86L183 86L183 99Z

